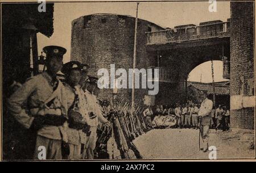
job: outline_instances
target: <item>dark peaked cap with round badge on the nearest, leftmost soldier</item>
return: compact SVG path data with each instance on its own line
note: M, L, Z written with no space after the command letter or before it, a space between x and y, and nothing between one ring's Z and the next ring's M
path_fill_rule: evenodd
M43 48L43 52L46 53L46 58L53 56L63 58L63 55L67 52L67 49L58 47L56 45L49 45Z

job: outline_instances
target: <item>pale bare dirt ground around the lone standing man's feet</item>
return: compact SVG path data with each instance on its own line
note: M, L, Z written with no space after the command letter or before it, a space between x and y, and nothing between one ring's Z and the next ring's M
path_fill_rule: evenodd
M209 159L209 152L199 151L199 130L195 129L153 129L133 142L143 159ZM212 145L217 148L217 159L254 158L254 131L210 129Z

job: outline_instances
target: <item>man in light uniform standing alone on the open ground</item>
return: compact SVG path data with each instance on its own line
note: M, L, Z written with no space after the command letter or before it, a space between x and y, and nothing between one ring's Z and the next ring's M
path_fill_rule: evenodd
M201 103L198 116L199 116L199 122L200 122L200 132L201 137L203 138L203 150L204 152L208 151L208 141L209 141L209 129L210 126L213 124L212 121L212 107L213 102L212 100L209 100L209 95L205 91L200 92L201 98L203 102Z

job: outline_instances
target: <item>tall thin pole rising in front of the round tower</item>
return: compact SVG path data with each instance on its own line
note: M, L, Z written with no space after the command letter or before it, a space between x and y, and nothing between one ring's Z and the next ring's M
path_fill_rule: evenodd
M134 108L134 96L135 96L135 73L134 73L134 69L135 69L135 66L136 66L138 6L139 6L139 2L137 2L136 19L135 19L135 33L134 33L134 48L133 48L133 88L131 90L131 107L132 108Z

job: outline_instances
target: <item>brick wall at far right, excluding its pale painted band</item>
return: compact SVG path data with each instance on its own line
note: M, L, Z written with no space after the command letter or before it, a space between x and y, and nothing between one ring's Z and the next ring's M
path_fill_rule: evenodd
M230 96L250 96L246 83L254 79L253 2L230 2ZM254 80L253 80L254 81ZM230 103L233 104L233 103ZM254 108L231 110L231 125L254 128Z

